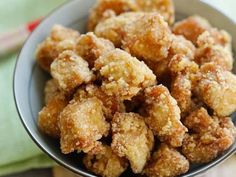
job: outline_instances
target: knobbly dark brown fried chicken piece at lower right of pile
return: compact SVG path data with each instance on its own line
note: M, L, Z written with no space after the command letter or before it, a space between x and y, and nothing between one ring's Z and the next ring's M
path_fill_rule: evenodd
M236 129L229 117L209 116L204 108L190 114L185 125L194 133L186 135L182 152L192 163L207 163L228 149Z

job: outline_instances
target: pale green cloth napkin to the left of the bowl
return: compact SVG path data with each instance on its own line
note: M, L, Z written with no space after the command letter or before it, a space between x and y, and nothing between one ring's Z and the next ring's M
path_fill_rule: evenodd
M0 0L0 32L45 16L65 0ZM12 80L17 53L0 58L0 176L53 165L33 143L16 112Z

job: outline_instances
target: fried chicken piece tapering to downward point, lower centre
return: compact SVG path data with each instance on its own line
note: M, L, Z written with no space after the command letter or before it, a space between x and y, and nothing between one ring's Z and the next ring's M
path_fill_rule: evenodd
M134 173L142 172L153 148L154 137L144 118L135 113L116 113L112 119L112 150L126 157Z

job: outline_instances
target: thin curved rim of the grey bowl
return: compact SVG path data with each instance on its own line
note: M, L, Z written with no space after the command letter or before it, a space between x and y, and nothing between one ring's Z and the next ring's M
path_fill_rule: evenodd
M48 157L50 157L52 160L54 160L59 165L62 165L66 169L69 169L69 170L71 170L72 172L74 172L76 174L79 174L79 175L82 175L82 176L85 176L85 177L96 177L96 175L94 175L94 174L92 174L90 172L85 172L83 170L80 170L80 169L77 169L77 168L74 168L74 167L70 166L69 164L67 164L63 160L60 160L58 157L53 155L49 150L47 150L47 148L45 148L42 144L40 144L40 142L37 140L37 138L33 135L31 130L28 128L28 125L26 123L27 119L25 119L23 114L22 114L22 111L21 111L21 109L19 107L19 103L18 103L18 99L17 99L17 94L16 94L16 89L17 89L17 86L16 86L16 72L17 72L17 69L18 69L18 62L20 60L20 55L21 55L22 51L24 50L24 48L26 46L26 43L28 43L29 39L35 33L37 28L39 26L41 26L46 19L48 19L55 12L60 11L63 8L63 6L69 5L69 4L71 4L71 3L75 2L75 1L77 1L77 0L71 0L71 1L63 2L62 4L60 4L59 6L54 8L53 10L51 10L51 12L49 12L47 15L45 15L45 17L41 20L40 24L36 27L36 29L25 40L23 47L20 49L20 51L19 51L19 53L18 53L18 55L16 57L16 62L15 62L15 66L14 66L14 71L13 71L13 97L14 97L15 107L16 107L18 116L20 118L20 121L21 121L22 125L24 126L24 129L26 130L26 132L28 133L30 138L33 140L33 142L44 152L44 154L46 154ZM175 0L173 0L173 1L175 1ZM205 2L203 0L200 0L199 3L202 3L207 8L213 9L214 11L216 11L217 13L219 13L220 15L222 15L226 19L228 19L231 23L233 23L233 24L236 23L236 22L233 21L233 19L231 17L226 15L224 12L220 11L218 8L216 8L214 6L211 6L207 2ZM193 176L201 175L204 172L206 172L207 170L211 169L212 167L214 167L216 165L219 165L220 163L222 163L224 160L229 158L234 153L236 153L236 146L234 148L231 148L227 153L223 154L221 158L215 159L210 164L207 164L206 166L203 166L199 170L195 170L195 171L193 171L190 174L183 174L183 175L181 175L181 177L193 177Z

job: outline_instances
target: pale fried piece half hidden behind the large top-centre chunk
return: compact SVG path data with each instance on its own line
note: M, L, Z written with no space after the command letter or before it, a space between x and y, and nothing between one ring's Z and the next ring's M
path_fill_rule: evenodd
M98 23L94 33L98 37L109 39L116 47L121 47L125 35L125 26L137 21L143 14L142 12L126 12L108 18Z

